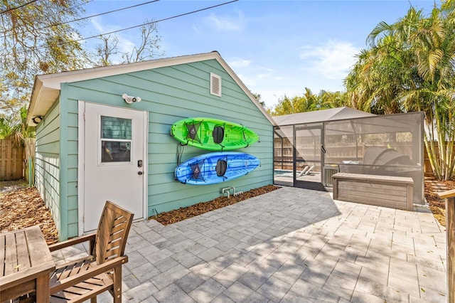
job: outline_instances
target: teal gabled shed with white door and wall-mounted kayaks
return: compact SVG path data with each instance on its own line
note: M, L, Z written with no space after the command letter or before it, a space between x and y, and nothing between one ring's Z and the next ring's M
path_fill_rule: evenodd
M238 151L261 165L220 184L179 183L182 147L170 129L187 117L252 129L259 142ZM106 200L145 220L210 201L229 186L273 184L274 121L218 52L38 75L28 124L36 127L36 187L60 240L95 230ZM207 152L186 146L180 159Z

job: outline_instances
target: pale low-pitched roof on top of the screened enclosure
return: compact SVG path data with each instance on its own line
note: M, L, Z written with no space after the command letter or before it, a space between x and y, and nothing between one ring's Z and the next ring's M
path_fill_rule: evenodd
M350 107L336 107L329 110L316 110L313 112L299 112L297 114L272 117L277 125L307 124L340 119L352 119L375 116L369 112L354 110Z

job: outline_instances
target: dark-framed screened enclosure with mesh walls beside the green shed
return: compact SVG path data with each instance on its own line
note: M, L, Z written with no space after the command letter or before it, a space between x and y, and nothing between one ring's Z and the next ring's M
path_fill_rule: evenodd
M413 202L424 202L422 112L327 111L274 117L274 184L330 190L338 172L405 176L414 181Z

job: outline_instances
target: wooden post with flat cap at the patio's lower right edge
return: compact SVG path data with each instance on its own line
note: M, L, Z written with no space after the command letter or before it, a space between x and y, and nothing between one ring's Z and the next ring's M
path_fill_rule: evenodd
M447 302L455 303L455 189L438 195L446 199Z

